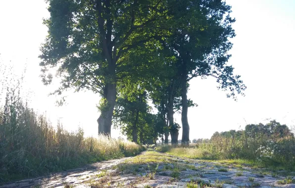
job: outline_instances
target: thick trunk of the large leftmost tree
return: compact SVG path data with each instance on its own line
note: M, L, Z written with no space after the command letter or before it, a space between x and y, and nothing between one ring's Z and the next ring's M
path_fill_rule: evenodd
M101 110L98 118L98 135L111 136L111 126L113 111L116 102L116 84L106 84L104 95L106 98L106 107Z

